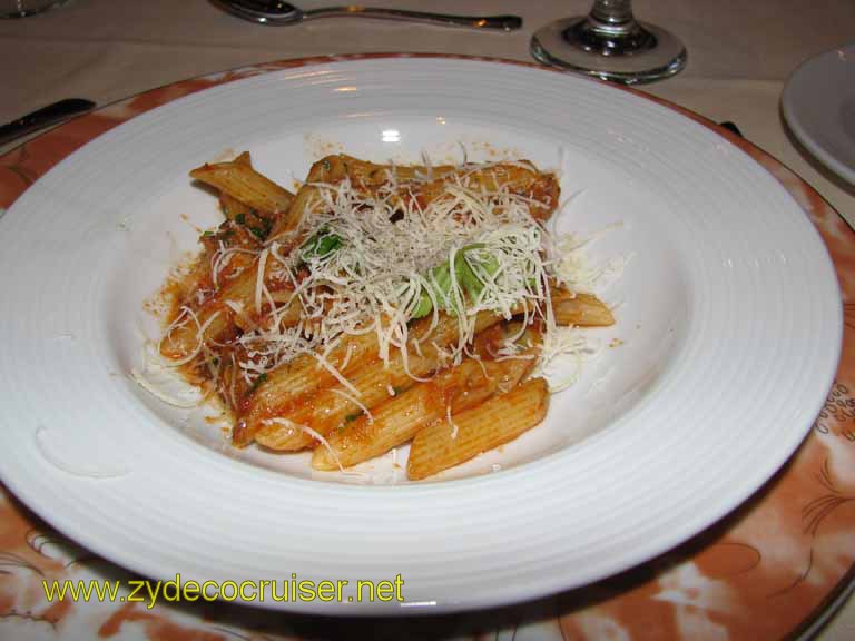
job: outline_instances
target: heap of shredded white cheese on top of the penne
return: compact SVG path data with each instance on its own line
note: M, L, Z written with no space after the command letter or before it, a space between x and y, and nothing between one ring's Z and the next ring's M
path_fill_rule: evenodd
M548 316L543 299L549 297L552 262L546 250L547 231L531 214L538 203L508 188L475 187L469 181L471 171L462 169L446 191L424 207L407 197L412 187L399 185L391 171L389 183L373 195L355 189L346 178L336 185L317 184L320 204L296 233L303 238L334 237L340 246L313 253L284 250L282 238L267 244L257 260L256 312L263 310L272 274L287 275L295 287L279 307L267 298L273 322L239 338L253 355L252 364L242 367L257 376L309 353L358 395L341 375L350 355L334 367L324 354L344 336L373 332L379 357L387 361L393 349L401 349L409 371L406 352L413 346L409 323L422 296L430 299L432 326L441 304L456 314L459 339L445 349L450 364L465 355L480 312L510 318L522 304L528 322ZM462 263L478 278L476 297L468 294L466 283L456 274L455 266ZM443 264L450 266L450 284L440 296L433 270ZM295 303L304 322L286 326L278 310ZM419 352L417 344L414 348Z

